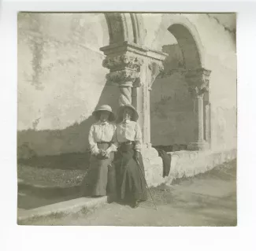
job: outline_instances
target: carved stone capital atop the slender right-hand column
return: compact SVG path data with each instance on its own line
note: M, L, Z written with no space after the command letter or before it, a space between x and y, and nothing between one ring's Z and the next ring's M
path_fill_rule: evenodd
M205 68L198 68L185 73L189 91L194 98L203 98L203 95L209 91L210 72Z

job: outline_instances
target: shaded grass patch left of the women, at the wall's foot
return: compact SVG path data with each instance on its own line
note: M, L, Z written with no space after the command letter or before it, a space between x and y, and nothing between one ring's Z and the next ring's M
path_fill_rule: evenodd
M89 168L90 156L85 152L18 159L17 176L32 185L77 186Z

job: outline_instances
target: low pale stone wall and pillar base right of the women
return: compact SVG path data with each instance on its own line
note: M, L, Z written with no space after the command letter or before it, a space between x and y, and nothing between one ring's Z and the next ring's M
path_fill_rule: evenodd
M163 164L158 151L154 148L143 149L143 163L148 186L158 186L161 183L170 185L174 179L192 177L199 173L210 171L218 164L236 159L236 149L222 152L178 151L168 153L171 156L169 176L163 178Z

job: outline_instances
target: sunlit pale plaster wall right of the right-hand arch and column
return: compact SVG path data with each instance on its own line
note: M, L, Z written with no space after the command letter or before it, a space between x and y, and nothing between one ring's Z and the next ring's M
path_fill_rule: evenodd
M201 24L204 24L202 25ZM236 39L208 15L195 20L210 75L212 149L236 149ZM201 25L199 25L201 24ZM207 29L206 27L211 27Z

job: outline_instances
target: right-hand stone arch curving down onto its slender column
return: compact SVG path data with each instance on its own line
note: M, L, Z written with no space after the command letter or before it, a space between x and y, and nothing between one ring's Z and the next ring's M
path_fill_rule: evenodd
M198 150L210 147L210 70L204 68L205 52L194 24L183 16L163 17L158 37L168 30L176 39L184 59L182 68L173 69L185 76L188 90L194 100L194 134L187 149ZM172 71L169 74L173 74Z

